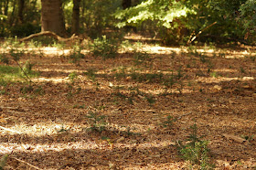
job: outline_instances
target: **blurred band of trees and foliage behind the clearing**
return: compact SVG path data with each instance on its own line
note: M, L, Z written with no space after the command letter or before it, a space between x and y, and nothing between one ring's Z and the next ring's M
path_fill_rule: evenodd
M253 44L255 39L254 0L1 0L0 37L26 37L44 30L43 18L58 14L50 12L50 5L47 9L42 5L57 1L63 10L63 24L59 24L63 27L46 30L61 36L62 29L68 36L92 38L135 31L161 38L166 45L186 44L200 31L194 43Z

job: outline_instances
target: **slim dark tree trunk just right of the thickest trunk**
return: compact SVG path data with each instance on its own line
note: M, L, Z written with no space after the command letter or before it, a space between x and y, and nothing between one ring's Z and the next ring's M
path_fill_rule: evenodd
M80 0L73 0L72 34L79 34L80 29Z

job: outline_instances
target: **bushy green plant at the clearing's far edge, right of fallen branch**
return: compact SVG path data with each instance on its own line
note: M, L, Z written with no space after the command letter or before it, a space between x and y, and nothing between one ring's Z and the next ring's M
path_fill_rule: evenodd
M91 53L95 57L115 58L117 56L118 45L114 39L108 39L106 36L94 39L91 45Z

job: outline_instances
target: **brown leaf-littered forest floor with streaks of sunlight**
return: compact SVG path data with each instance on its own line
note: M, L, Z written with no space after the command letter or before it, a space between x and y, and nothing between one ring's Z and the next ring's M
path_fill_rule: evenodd
M254 48L141 44L116 58L82 50L76 64L68 50L25 49L19 63L38 76L0 83L5 169L256 167ZM177 147L193 132L208 141L197 165Z

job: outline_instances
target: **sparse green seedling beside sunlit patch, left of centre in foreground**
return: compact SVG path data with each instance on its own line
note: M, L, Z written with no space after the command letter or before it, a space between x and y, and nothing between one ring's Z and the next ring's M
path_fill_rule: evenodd
M107 124L105 116L99 115L99 112L89 111L86 117L88 118L88 124L90 126L87 129L88 131L101 133L105 130Z

